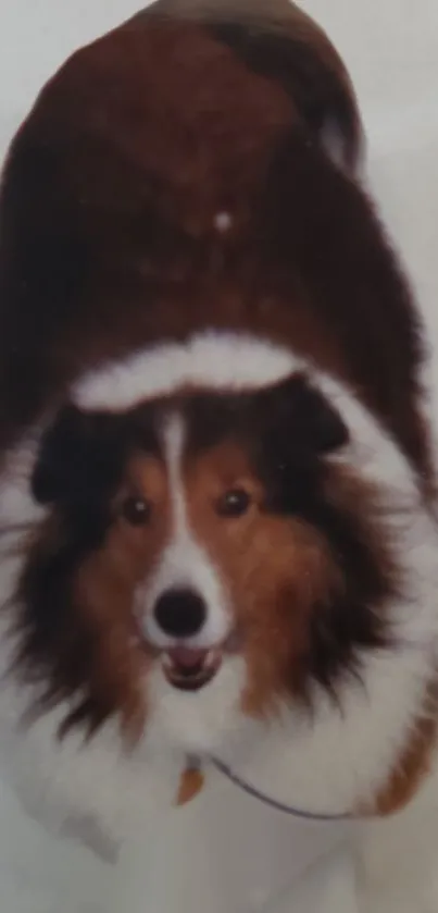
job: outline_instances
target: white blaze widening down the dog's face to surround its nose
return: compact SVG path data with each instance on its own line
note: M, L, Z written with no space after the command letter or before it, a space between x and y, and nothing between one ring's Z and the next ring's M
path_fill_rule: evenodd
M158 647L171 647L175 639L165 634L154 618L157 600L168 590L193 590L205 602L207 618L200 632L187 638L186 643L192 647L208 649L226 638L230 616L218 572L201 543L196 540L188 522L182 474L185 428L178 415L167 418L163 443L172 504L172 533L152 580L140 596L139 612L143 614L148 640Z

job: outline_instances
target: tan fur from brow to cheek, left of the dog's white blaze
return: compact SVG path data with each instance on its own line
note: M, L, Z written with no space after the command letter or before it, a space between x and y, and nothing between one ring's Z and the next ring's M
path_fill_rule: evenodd
M98 704L116 708L124 730L134 740L147 714L147 673L153 662L138 630L136 590L143 583L168 534L168 510L163 473L149 460L137 460L126 493L150 498L155 517L146 528L114 521L102 547L83 564L74 582L77 612L89 633L93 652L90 694Z

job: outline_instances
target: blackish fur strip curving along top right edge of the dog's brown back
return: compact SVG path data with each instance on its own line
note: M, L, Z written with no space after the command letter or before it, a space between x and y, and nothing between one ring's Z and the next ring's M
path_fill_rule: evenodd
M157 0L132 21L185 18L210 33L254 72L277 79L314 136L354 171L363 145L349 73L326 33L290 0Z

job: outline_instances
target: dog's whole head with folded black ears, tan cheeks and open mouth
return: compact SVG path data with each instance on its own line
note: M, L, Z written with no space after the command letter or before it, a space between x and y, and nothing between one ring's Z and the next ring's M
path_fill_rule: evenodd
M139 737L172 702L208 714L211 699L228 726L311 702L314 683L336 694L384 639L393 585L376 492L339 459L348 440L300 373L58 414L18 605L21 662L67 699L67 726L117 715Z

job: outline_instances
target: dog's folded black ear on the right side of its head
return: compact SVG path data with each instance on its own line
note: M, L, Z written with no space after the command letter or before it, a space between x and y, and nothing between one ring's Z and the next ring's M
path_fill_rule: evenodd
M288 456L313 458L343 447L348 429L336 407L303 374L293 374L262 394L271 444Z

